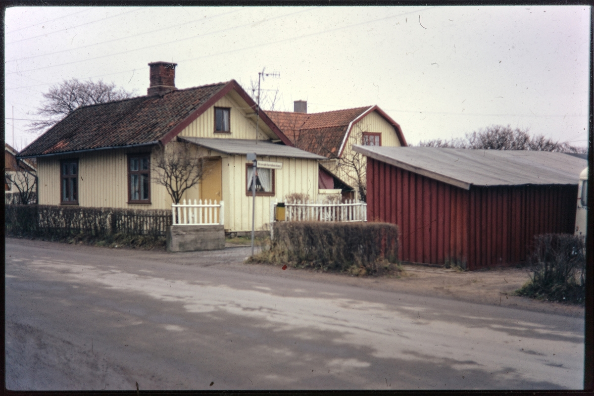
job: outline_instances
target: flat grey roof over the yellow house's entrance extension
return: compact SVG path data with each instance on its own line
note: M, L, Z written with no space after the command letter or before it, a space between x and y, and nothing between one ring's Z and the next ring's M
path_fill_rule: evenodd
M326 157L300 150L282 144L258 140L242 139L217 139L217 138L193 138L178 137L179 140L188 141L210 150L219 151L225 154L248 154L256 153L258 156L305 158L311 160L325 160Z

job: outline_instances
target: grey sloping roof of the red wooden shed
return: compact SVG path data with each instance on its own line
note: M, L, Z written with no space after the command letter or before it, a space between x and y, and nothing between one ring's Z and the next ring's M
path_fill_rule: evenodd
M547 151L359 145L353 145L353 150L465 189L471 185L577 184L587 166L587 160Z

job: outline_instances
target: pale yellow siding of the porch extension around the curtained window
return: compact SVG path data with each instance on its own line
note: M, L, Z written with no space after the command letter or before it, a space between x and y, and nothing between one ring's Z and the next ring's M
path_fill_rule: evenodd
M315 160L285 157L263 157L264 161L283 163L275 170L274 197L256 197L255 229L268 229L270 203L283 202L287 194L308 194L315 201L318 195L318 164ZM234 232L251 230L252 197L245 194L245 156L228 156L222 159L223 200L225 201L225 229Z

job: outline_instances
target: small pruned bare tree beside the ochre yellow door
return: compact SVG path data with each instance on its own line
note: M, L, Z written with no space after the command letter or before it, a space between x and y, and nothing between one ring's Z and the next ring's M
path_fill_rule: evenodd
M165 186L174 204L179 204L188 189L200 183L208 172L204 157L187 142L170 142L154 150L153 181Z

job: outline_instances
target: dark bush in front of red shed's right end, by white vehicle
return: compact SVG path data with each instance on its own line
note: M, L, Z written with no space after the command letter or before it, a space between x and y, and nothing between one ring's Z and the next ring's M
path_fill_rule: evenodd
M529 263L532 279L516 294L542 300L583 304L586 296L584 237L544 234L534 237Z

